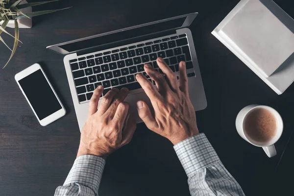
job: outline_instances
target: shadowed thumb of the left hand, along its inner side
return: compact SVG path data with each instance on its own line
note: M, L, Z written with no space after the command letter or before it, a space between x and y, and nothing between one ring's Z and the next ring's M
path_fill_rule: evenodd
M122 139L122 146L130 143L134 132L137 128L136 120L133 114L128 115L125 121L125 127L123 129L123 139Z

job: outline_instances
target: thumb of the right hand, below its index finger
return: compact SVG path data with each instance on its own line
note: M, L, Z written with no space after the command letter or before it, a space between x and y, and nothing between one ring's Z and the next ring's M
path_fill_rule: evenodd
M157 122L155 121L155 118L151 114L151 111L144 101L138 101L137 102L137 110L139 117L142 119L142 121L146 124L148 129L154 130L158 126Z

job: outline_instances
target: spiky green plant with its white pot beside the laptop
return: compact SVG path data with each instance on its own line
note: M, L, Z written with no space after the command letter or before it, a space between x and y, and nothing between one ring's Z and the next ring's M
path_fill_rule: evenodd
M57 0L49 0L49 1L43 1L43 2L32 2L28 3L26 0L0 0L0 41L8 48L11 50L11 55L5 64L3 68L6 67L6 65L9 63L11 58L13 57L17 45L19 42L19 28L30 28L32 25L31 23L31 17L34 16L39 16L43 14L49 14L52 12L56 12L59 10L63 9L68 9L68 8L63 8L63 9L55 9L55 10L44 10L44 11L36 11L32 12L31 7L36 6L36 5L41 5L44 3L49 3ZM15 28L14 30L14 36L8 33L5 28L13 27ZM14 45L13 49L11 49L3 40L1 37L1 33L4 32L14 38ZM22 43L22 42L21 42Z

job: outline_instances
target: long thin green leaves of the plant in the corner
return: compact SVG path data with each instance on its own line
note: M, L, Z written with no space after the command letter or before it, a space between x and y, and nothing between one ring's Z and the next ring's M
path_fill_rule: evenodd
M49 3L49 2L53 2L53 1L58 1L58 0L47 0L47 1L41 1L41 2L20 4L22 1L23 0L0 0L0 22L2 22L2 25L0 25L0 35L2 32L4 32L14 38L13 49L10 49L9 46L3 40L3 38L0 36L0 42L2 42L8 49L11 50L11 55L3 68L5 68L6 65L9 63L9 61L11 60L13 55L15 54L18 43L21 42L19 40L19 26L18 26L17 19L24 19L24 18L34 17L34 16L40 16L43 14L49 14L52 12L56 12L56 11L70 8L70 7L67 7L67 8L63 8L63 9L44 10L44 11L23 13L23 11L21 11L21 9L31 7L31 6L41 5L41 4L45 4L45 3ZM14 20L15 36L11 35L10 33L8 33L5 30L5 27L8 24L9 20Z

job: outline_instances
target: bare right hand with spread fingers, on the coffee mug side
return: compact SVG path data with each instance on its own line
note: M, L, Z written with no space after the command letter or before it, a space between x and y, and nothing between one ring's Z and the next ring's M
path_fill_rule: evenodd
M155 81L158 90L143 74L136 75L136 79L150 98L154 115L144 101L137 102L137 109L140 118L150 130L176 145L199 133L195 110L189 98L186 64L184 61L179 64L180 82L162 58L157 58L157 64L167 79L149 64L146 64L144 69Z

